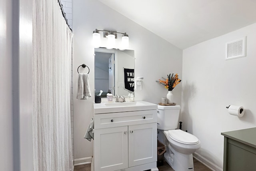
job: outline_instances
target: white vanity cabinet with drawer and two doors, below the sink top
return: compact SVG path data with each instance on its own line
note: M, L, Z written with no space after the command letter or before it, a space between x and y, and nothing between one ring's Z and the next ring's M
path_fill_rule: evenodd
M158 171L157 111L94 114L94 171Z

